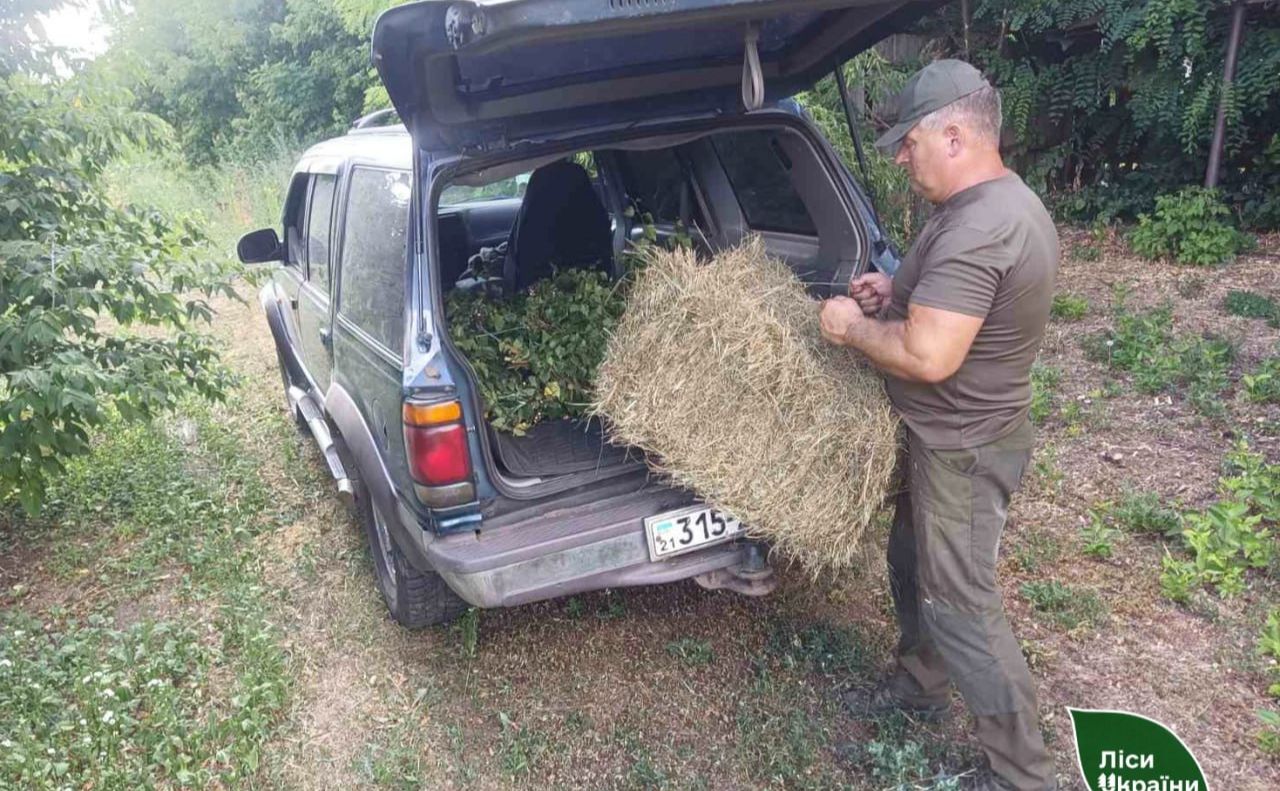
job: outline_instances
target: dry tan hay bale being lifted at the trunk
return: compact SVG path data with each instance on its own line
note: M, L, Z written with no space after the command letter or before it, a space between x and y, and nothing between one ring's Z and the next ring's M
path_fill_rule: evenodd
M759 238L710 261L646 255L594 412L812 575L850 568L897 454L879 374L822 339L818 303Z

